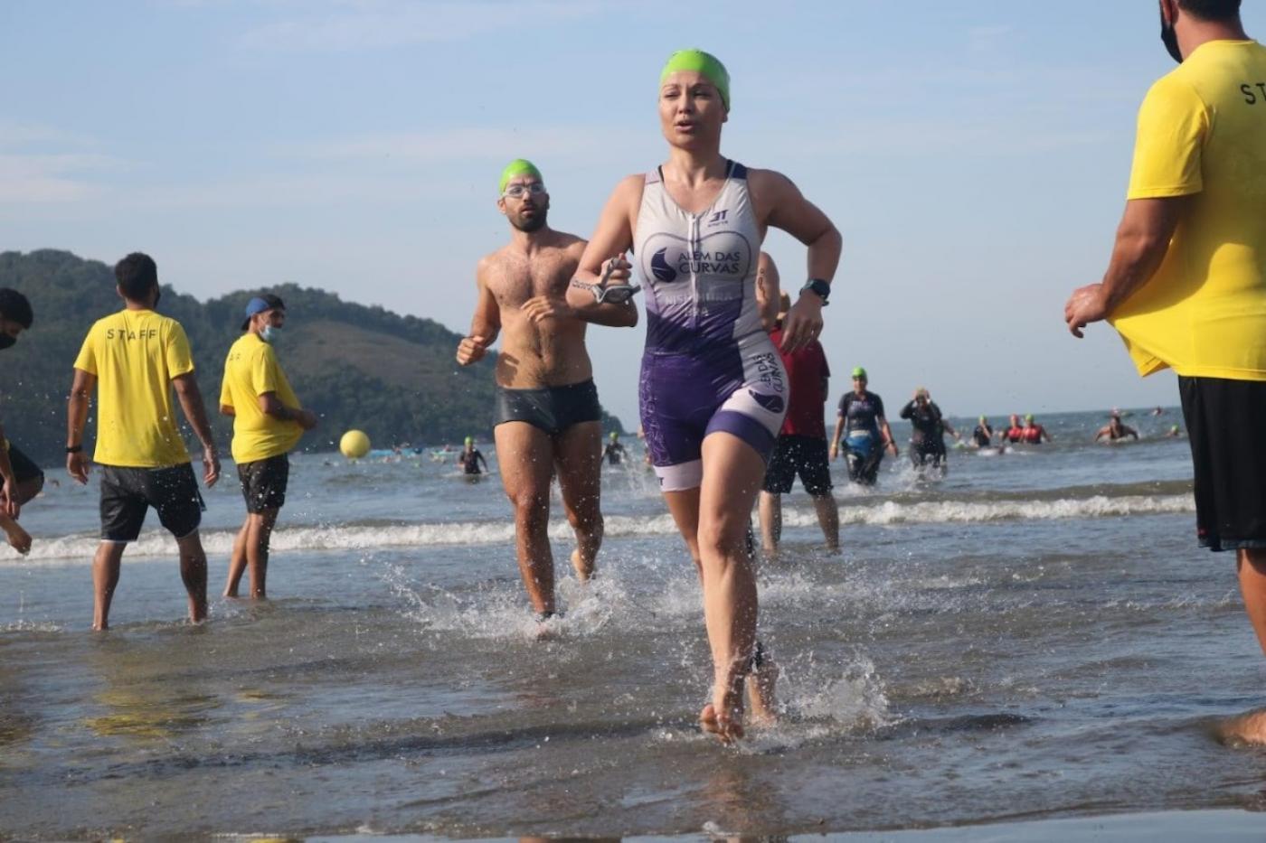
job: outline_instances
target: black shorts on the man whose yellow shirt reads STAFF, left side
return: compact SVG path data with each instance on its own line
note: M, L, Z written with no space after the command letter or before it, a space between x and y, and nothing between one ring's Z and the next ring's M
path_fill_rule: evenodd
M158 520L176 538L185 538L203 523L203 494L190 463L166 468L101 466L101 538L134 542L146 513L153 506Z

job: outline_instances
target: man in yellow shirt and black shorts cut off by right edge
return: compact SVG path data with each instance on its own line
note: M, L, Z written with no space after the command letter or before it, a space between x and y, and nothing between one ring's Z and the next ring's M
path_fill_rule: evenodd
M1065 320L1081 337L1108 319L1141 375L1177 373L1200 544L1236 551L1266 649L1266 48L1244 34L1239 0L1160 5L1180 65L1139 109L1108 272L1072 294ZM1266 742L1266 716L1255 729L1242 737Z

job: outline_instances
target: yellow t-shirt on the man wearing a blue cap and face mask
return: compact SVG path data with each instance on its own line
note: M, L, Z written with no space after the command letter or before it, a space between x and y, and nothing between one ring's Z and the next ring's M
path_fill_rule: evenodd
M292 410L301 409L272 346L248 332L229 348L220 389L220 405L234 411L234 462L284 454L299 444L304 433L298 422L282 422L260 409L258 399L265 392L276 392L277 400Z

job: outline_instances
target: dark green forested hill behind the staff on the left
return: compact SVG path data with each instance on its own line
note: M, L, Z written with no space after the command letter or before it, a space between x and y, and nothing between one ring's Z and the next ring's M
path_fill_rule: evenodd
M0 420L38 462L60 465L75 356L89 327L122 308L114 272L68 252L0 252L0 286L23 291L35 311L34 328L0 352ZM490 438L494 356L462 368L453 361L460 334L436 322L294 284L270 291L285 299L290 316L277 354L299 399L322 418L320 427L304 437L304 448L330 449L349 428L368 433L375 447L460 440L467 434ZM229 346L241 335L246 303L256 292L200 303L163 285L158 306L189 334L197 382L225 453L232 422L215 411L220 375ZM613 419L608 424L618 427ZM91 420L87 438L92 438Z

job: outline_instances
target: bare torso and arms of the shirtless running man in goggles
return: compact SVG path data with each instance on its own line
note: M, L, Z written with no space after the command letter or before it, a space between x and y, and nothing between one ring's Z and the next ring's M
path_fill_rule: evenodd
M479 303L471 335L458 347L457 359L482 357L501 333L496 382L503 387L566 386L592 377L586 323L570 315L565 301L584 251L581 238L548 232L529 249L511 242L484 257L476 270ZM542 311L548 318L530 318Z

